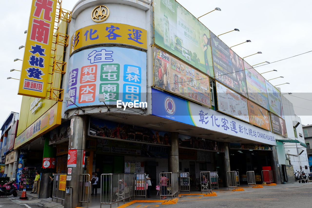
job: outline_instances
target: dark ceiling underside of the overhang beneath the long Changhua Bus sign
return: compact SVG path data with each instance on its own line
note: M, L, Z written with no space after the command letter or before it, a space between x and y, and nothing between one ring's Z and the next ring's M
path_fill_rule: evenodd
M89 114L90 116L101 118L105 120L132 124L136 126L143 126L146 128L156 129L160 131L169 131L169 132L178 132L179 134L189 135L189 136L197 136L205 139L215 140L215 141L223 141L223 142L236 142L236 143L246 143L246 144L265 144L258 141L252 141L248 139L244 139L241 137L236 137L232 135L223 134L217 131L211 131L207 129L203 129L197 126L191 126L184 123L179 123L177 121L172 121L169 119L161 118L153 115L134 115L128 113L95 113ZM110 116L112 115L112 116ZM154 126L151 124L159 125ZM183 130L183 131L179 131ZM204 136L207 135L207 136Z

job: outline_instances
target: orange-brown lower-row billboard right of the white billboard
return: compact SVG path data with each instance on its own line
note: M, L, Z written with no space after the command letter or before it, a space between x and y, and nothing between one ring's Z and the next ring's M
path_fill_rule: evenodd
M247 100L247 104L248 104L249 122L253 125L271 131L269 111L251 102L250 100Z

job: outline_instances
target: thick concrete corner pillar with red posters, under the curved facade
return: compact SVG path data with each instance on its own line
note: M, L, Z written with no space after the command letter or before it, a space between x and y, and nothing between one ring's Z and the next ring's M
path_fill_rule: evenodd
M66 181L66 187L71 187L72 192L70 195L65 195L64 208L76 208L81 206L79 203L79 190L80 190L80 174L84 173L85 167L82 166L83 152L85 150L85 141L87 137L89 118L88 116L73 116L71 119L71 128L69 134L69 147L68 150L77 151L76 167L71 167L71 180ZM68 166L68 164L67 164Z

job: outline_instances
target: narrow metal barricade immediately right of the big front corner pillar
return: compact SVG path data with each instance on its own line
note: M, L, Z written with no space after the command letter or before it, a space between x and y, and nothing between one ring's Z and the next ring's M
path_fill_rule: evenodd
M80 190L79 190L79 202L87 203L89 207L90 195L91 195L91 181L89 174L80 174ZM98 186L98 184L96 184Z

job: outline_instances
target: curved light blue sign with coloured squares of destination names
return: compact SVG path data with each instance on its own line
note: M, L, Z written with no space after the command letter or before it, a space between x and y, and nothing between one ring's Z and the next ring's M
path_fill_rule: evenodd
M67 89L71 101L66 109L77 106L146 102L146 52L122 47L85 49L69 58ZM75 105L75 104L76 105Z

